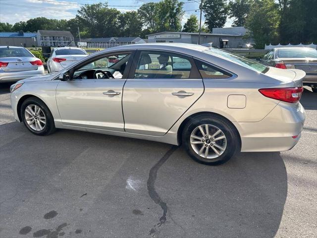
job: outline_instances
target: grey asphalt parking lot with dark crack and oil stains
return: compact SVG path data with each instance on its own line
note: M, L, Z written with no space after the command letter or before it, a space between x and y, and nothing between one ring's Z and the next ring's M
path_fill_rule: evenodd
M290 151L209 167L168 144L81 131L35 136L0 89L1 238L312 238L317 94Z

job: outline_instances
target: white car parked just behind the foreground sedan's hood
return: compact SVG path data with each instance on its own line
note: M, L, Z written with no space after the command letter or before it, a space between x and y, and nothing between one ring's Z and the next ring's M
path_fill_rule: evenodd
M53 48L47 61L49 73L58 72L68 65L88 56L84 49L76 47Z

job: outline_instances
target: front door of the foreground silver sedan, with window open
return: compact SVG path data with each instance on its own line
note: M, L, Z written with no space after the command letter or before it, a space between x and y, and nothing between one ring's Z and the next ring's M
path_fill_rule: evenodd
M56 103L62 124L124 131L122 90L132 55L118 52L88 60L75 69L73 80L59 82Z

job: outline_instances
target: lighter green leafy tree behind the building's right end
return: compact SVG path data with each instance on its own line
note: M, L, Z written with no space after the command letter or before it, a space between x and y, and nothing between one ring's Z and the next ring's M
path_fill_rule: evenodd
M263 49L265 43L277 44L279 22L279 9L274 0L255 0L245 24L249 29L246 37L253 38L258 49Z

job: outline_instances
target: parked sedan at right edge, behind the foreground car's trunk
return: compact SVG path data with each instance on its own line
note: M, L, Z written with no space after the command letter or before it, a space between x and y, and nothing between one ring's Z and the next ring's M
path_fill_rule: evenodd
M264 65L277 68L296 68L306 72L303 84L317 92L317 50L306 47L280 47L270 50L263 59Z

